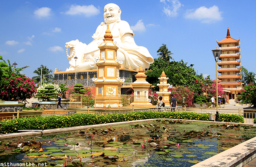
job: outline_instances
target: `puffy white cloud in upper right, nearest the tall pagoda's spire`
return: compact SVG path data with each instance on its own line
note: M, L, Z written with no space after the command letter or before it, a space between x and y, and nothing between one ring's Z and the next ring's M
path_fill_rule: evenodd
M217 6L200 7L196 10L187 10L185 18L201 20L201 23L213 23L222 20L221 13Z

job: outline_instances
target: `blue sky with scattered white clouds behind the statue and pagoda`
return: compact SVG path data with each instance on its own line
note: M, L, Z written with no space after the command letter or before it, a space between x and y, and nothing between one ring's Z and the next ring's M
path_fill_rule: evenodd
M241 65L256 73L256 0L5 0L0 55L18 68L29 65L23 71L29 77L41 64L66 71L65 43L90 43L107 3L121 8L121 20L130 24L136 44L153 58L164 43L175 61L183 59L198 74L216 79L211 50L229 27L230 36L240 38Z

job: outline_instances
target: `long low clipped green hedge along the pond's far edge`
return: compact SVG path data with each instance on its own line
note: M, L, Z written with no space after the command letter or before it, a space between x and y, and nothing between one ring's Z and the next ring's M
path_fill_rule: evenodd
M0 134L16 133L18 130L46 130L54 128L67 128L92 124L106 124L112 122L134 121L153 118L172 118L209 121L209 114L194 112L161 112L143 111L129 113L113 113L107 115L74 114L64 116L33 117L7 119L0 121ZM241 115L220 114L220 120L225 122L243 123Z

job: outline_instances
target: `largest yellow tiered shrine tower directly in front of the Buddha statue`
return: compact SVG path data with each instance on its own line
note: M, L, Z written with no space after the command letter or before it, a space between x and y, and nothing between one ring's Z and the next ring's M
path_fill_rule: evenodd
M104 42L98 46L100 60L96 62L98 79L94 79L96 87L95 108L122 107L121 85L123 80L119 77L119 68L122 64L117 59L118 47L113 43L111 31L107 27Z

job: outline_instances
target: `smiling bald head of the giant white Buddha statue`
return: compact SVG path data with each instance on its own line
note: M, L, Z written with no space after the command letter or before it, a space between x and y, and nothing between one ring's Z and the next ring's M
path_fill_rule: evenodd
M121 18L121 9L114 3L108 3L104 7L104 21L105 23L114 23Z

